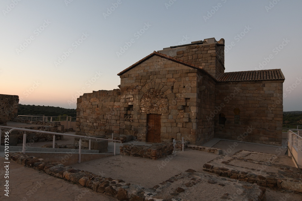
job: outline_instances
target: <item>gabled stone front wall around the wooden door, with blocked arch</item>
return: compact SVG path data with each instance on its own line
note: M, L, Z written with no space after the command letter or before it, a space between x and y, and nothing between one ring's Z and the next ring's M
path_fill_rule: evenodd
M146 141L147 115L160 114L162 142L185 137L195 144L199 86L197 71L191 70L194 69L153 56L122 74L120 133Z

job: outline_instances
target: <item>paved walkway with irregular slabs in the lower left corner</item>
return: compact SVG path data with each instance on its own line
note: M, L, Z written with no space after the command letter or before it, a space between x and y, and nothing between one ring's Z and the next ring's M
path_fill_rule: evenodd
M1 201L79 201L104 200L114 201L115 198L97 193L91 189L72 184L68 181L52 177L48 174L24 167L13 161L4 163L0 157L0 200ZM9 197L5 196L5 165L9 164Z

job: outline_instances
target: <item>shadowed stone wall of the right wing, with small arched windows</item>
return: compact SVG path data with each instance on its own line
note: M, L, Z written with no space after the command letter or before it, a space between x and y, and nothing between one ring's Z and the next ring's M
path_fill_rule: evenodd
M218 83L215 110L207 117L215 119L215 137L281 145L283 81Z

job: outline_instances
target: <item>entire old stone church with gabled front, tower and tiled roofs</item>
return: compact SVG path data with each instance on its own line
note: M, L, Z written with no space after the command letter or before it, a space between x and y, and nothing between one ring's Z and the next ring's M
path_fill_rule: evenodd
M224 39L164 48L117 74L120 89L77 100L76 134L201 145L212 138L281 144L280 69L224 72Z

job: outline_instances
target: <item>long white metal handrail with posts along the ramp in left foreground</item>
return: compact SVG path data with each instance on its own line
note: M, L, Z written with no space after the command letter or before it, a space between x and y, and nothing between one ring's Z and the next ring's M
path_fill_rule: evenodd
M108 139L103 139L103 138L97 138L97 137L88 137L88 136L83 136L83 135L72 135L72 134L66 134L66 133L55 133L55 132L49 132L49 131L43 131L43 130L32 130L32 129L26 129L26 128L15 128L15 127L8 127L8 126L0 126L0 144L1 144L1 128L8 128L11 129L9 130L9 133L14 130L20 130L24 131L23 134L23 145L22 145L22 152L25 154L25 149L26 149L26 134L25 132L34 132L34 133L44 133L44 134L51 134L53 135L53 148L55 148L55 140L56 140L56 135L63 135L63 136L71 136L71 137L79 137L79 161L78 163L81 163L81 148L82 148L82 140L81 138L84 139L89 139L89 150L91 150L91 139L95 140L107 140L107 141L112 141L114 142L114 155L116 155L116 142L122 143L120 140L108 140Z

